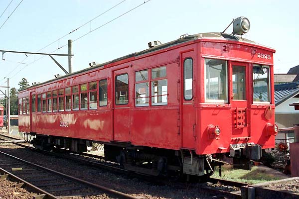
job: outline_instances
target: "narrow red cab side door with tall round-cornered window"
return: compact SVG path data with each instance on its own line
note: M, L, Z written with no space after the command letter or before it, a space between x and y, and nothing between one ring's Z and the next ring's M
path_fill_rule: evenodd
M182 147L192 148L196 138L195 79L194 79L194 51L181 54L182 69Z

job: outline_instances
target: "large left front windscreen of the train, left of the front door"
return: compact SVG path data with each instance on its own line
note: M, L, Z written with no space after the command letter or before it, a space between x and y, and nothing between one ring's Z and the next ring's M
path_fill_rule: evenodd
M227 62L205 59L205 100L227 102Z

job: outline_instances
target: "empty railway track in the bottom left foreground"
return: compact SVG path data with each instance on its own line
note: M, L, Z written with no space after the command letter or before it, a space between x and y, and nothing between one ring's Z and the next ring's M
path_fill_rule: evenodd
M10 172L8 172L10 171ZM81 179L56 172L0 152L0 172L21 181L49 199L108 195L109 198L137 199Z

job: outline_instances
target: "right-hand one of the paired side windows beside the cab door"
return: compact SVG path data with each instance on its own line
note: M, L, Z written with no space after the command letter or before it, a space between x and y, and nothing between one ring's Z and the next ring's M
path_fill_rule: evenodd
M167 79L165 77L166 66L151 70L151 105L167 104Z

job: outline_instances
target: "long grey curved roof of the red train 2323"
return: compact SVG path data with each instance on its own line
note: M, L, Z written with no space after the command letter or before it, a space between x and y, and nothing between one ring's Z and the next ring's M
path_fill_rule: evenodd
M258 44L254 41L249 40L249 39L242 38L240 36L234 36L232 34L220 33L220 32L206 32L206 33L199 33L199 34L193 34L193 35L185 34L185 35L181 36L179 39L176 39L174 41L170 41L170 42L167 42L167 43L164 43L164 44L160 44L160 45L151 47L149 49L146 49L146 50L143 50L143 51L140 51L140 52L131 53L129 55L126 55L126 56L108 61L106 63L98 64L98 65L95 65L93 67L89 67L89 68L86 68L86 69L83 69L83 70L80 70L80 71L76 71L76 72L68 74L68 75L60 76L58 78L48 80L48 81L43 82L43 83L35 84L35 85L33 85L31 87L28 87L26 89L30 89L30 88L37 87L37 86L40 86L40 85L43 85L43 84L54 82L54 81L57 81L57 80L60 80L60 79L64 79L66 77L70 77L72 75L84 73L86 71L94 70L95 68L101 68L105 65L112 64L112 63L115 63L115 62L118 62L118 61L121 61L121 60L125 60L125 59L131 58L131 57L137 57L137 56L144 55L144 54L147 54L147 53L150 53L150 52L153 52L153 51L157 51L157 50L160 50L160 49L164 49L164 48L167 48L167 47L175 46L175 45L180 44L180 43L188 42L188 41L191 41L191 40L197 40L197 39L219 39L219 40L222 40L222 41L223 40L242 41L242 42L246 42L246 43L261 46L261 44ZM264 46L264 47L266 47L266 46ZM269 48L269 47L266 47L266 48ZM272 49L272 48L270 48L270 49ZM272 50L274 51L274 49L272 49ZM24 89L24 90L26 90L26 89ZM21 90L21 91L24 91L24 90Z

